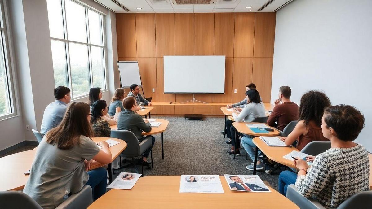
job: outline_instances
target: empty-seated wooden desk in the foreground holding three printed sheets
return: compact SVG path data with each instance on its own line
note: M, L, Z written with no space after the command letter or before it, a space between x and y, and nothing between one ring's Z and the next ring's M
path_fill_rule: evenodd
M90 205L89 209L122 208L130 205L138 208L189 209L231 208L233 200L242 200L249 208L298 208L291 200L270 188L271 192L231 191L223 176L220 176L225 193L180 193L180 176L141 177L131 190L111 189ZM146 203L143 194L146 194Z

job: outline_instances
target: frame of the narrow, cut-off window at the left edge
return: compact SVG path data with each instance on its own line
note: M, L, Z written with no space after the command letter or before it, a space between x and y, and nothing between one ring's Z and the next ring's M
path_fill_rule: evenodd
M11 40L10 40L10 29L9 29L9 13L8 13L8 8L6 1L0 0L0 12L1 12L1 19L2 19L2 27L0 26L0 33L1 33L1 38L3 42L3 54L4 54L4 80L6 84L6 90L7 90L7 96L9 100L9 108L10 108L10 113L4 114L0 116L0 121L6 120L9 118L14 118L15 116L19 116L18 114L18 106L17 106L17 98L16 98L16 89L15 89L15 74L12 68L12 54L10 47L11 45ZM1 47L0 47L1 49Z

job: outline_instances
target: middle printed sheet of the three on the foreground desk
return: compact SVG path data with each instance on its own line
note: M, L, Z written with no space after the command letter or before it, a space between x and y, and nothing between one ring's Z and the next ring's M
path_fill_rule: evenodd
M180 193L224 193L217 175L181 175Z

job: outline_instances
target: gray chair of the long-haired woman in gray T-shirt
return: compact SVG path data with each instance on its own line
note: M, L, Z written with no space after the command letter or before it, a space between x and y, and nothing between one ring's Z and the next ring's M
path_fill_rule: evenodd
M85 185L80 192L72 194L56 209L88 208L93 202L92 188ZM7 209L42 209L30 196L19 191L0 192L0 208Z

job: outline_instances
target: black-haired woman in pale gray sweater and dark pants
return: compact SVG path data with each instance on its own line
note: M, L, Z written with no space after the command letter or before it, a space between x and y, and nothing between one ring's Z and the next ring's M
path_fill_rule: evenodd
M237 115L236 109L232 112L232 117L234 118L235 122L252 122L257 117L264 117L266 116L265 105L261 102L260 94L256 89L251 89L246 91L246 99L247 105L241 109L241 113ZM226 123L226 130L227 130L227 137L231 139L232 147L230 150L227 151L228 154L233 155L234 149L235 154L240 154L240 142L236 142L237 147L234 147L235 144L235 131L236 129L232 126L231 122ZM238 135L244 136L243 134L237 132ZM237 139L239 140L239 139Z

